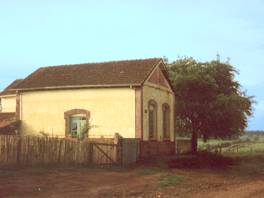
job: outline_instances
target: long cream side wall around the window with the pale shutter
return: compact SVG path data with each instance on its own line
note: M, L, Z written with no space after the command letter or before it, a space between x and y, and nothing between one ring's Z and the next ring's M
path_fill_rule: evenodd
M21 93L22 134L65 135L64 112L90 111L90 137L135 137L135 90L99 88Z

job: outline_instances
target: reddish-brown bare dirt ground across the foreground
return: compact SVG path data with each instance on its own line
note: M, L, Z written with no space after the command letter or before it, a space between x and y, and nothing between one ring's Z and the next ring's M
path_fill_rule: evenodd
M263 160L244 160L225 169L1 168L0 197L186 197L264 198Z

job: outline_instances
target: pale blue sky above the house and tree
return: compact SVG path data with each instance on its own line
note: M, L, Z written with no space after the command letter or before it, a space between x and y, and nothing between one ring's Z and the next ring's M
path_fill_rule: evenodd
M217 53L264 129L263 0L0 0L0 90L41 66Z

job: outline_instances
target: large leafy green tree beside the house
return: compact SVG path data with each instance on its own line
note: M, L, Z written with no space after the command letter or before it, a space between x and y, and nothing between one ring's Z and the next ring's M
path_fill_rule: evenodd
M206 141L243 133L253 100L241 91L233 66L183 58L169 64L168 71L175 92L176 124L191 131L193 153L198 137Z

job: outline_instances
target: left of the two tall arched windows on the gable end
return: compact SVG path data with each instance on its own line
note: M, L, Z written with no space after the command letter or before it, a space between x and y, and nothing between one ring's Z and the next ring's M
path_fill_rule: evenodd
M150 100L148 103L148 117L149 117L149 139L157 139L157 103Z

